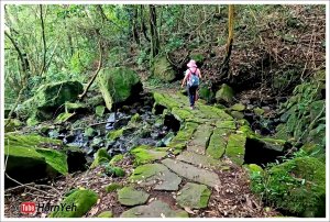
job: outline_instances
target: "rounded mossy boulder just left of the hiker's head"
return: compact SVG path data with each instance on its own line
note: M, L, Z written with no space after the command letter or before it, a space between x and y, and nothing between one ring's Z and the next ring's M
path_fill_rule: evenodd
M162 81L170 82L176 78L176 73L166 56L156 56L152 67L153 77Z

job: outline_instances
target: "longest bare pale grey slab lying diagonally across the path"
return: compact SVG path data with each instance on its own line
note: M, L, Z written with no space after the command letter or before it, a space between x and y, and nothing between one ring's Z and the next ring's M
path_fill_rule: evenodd
M190 164L186 164L180 160L174 160L170 158L166 158L162 160L162 163L177 175L190 179L193 181L197 181L210 187L216 187L217 185L220 185L220 179L218 175L213 171L201 169Z

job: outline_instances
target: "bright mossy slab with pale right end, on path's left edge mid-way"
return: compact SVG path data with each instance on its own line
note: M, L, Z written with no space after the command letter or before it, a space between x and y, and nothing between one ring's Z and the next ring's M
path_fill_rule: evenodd
M135 165L147 164L157 159L162 159L167 155L167 147L151 147L141 145L130 151L134 157Z

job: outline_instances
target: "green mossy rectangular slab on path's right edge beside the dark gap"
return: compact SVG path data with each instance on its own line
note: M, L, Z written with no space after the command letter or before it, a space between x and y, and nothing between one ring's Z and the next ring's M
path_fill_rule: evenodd
M231 134L228 140L226 156L233 163L242 165L244 163L246 136L242 134Z

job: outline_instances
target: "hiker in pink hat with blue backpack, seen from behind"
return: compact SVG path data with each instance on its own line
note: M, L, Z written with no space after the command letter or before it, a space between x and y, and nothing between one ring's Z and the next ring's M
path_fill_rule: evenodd
M182 88L187 84L187 91L189 96L190 109L195 109L195 101L197 100L197 89L199 86L199 79L201 79L200 70L197 68L196 62L190 60L186 70L185 78L182 84Z

